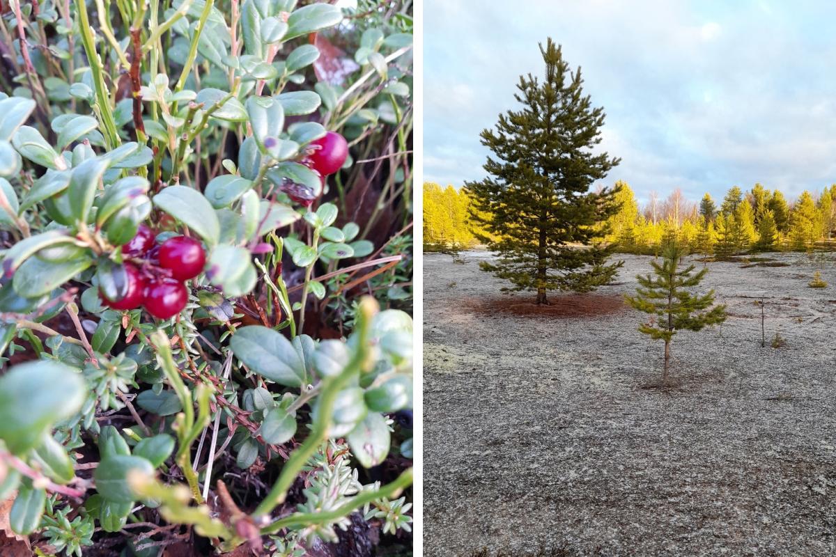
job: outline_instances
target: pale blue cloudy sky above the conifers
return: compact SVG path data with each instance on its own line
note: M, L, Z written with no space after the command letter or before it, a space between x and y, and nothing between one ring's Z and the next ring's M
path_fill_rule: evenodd
M640 200L836 182L836 3L427 0L424 177L484 175L479 132L542 75L552 37L607 119L602 147Z

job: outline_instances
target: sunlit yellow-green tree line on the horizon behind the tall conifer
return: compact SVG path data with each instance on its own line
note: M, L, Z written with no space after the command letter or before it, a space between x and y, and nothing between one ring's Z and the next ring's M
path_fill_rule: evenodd
M836 184L821 193L804 190L789 203L780 190L755 184L751 190L733 186L722 200L710 194L688 200L682 190L660 199L651 192L644 205L626 182L615 183L619 210L606 220L604 242L620 253L658 253L675 238L692 252L725 257L753 251L809 251L829 246L836 228ZM468 215L472 193L462 187L426 182L424 242L441 246L476 246L476 224Z

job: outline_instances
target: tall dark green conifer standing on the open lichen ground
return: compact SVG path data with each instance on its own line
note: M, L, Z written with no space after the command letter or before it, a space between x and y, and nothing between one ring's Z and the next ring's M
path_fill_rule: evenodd
M499 256L482 269L512 282L502 290L536 291L537 303L548 303L548 291L609 283L622 264L608 264L614 245L599 243L608 234L604 222L619 210L618 188L590 191L619 160L592 152L604 109L584 96L580 68L572 73L551 39L540 52L543 78L521 76L514 95L520 109L482 131L492 151L483 167L488 176L467 188L480 240Z

